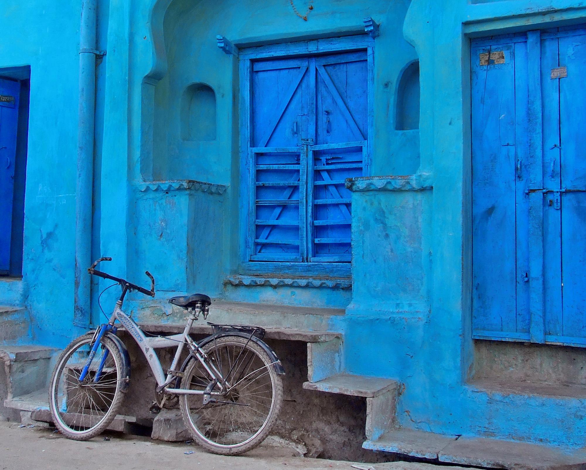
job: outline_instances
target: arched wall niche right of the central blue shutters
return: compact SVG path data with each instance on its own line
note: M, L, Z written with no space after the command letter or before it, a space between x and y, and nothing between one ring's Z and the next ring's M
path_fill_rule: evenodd
M419 100L419 62L415 61L403 71L397 88L397 131L419 129Z

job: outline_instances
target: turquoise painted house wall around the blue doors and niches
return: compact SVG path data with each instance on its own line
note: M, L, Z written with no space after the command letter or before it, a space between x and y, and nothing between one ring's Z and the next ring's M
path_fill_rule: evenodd
M28 308L33 338L21 341L59 347L81 331L71 326L79 15L79 2L0 5L0 76L2 68L30 66L23 277L0 278L0 304ZM373 177L350 185L352 289L226 282L239 274L239 84L237 60L215 36L241 47L313 39L357 32L364 16L380 23L380 36ZM154 303L130 298L142 320L155 321L172 294L195 290L346 308L330 325L345 333L346 369L405 385L402 426L585 445L584 400L466 385L473 363L469 38L585 18L586 7L573 0L328 0L316 2L306 22L288 2L101 1L98 43L107 54L97 71L94 257L112 256L108 272L137 283L147 283L147 269L155 275ZM398 83L415 60L420 126L397 131ZM193 84L214 91L215 139L182 138L182 97ZM97 293L108 285L94 283L94 323Z

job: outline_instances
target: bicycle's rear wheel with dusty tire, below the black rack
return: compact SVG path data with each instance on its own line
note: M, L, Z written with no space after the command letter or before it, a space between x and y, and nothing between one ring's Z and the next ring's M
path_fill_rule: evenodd
M277 420L283 397L281 376L267 352L247 338L218 338L203 350L226 379L234 382L233 387L225 396L216 396L223 403L203 405L202 395L181 395L183 421L193 439L207 451L222 455L243 454L263 442ZM203 390L210 380L202 364L192 358L181 387ZM251 385L254 388L249 388ZM263 422L258 426L260 421ZM222 428L223 423L225 428Z

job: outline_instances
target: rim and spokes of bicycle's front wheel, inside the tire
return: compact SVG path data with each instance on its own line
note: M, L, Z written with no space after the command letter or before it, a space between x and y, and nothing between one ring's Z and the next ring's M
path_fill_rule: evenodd
M120 364L104 341L91 362L86 378L80 383L81 370L90 354L91 339L80 341L62 358L52 383L53 417L73 434L86 434L104 422L120 393ZM98 366L104 368L94 382Z

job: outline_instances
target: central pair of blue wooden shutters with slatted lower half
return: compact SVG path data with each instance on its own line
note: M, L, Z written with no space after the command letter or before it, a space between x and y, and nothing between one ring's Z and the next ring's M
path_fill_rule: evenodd
M367 53L251 63L251 261L349 262L368 140Z

